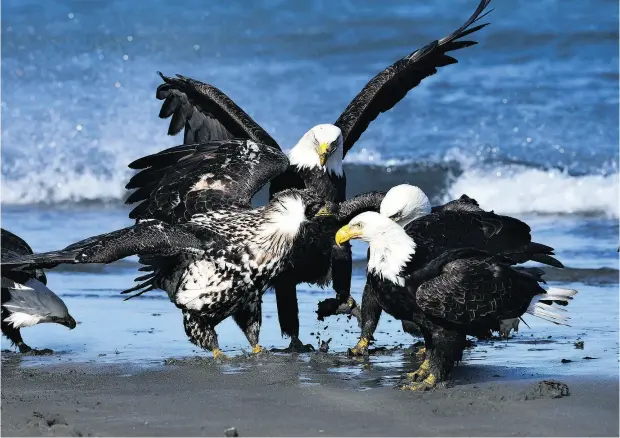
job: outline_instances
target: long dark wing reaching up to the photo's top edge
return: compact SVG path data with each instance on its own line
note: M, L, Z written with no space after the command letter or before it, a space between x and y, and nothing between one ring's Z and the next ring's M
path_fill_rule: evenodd
M476 11L463 26L447 37L433 41L396 61L366 84L335 123L342 130L344 154L353 147L379 114L390 110L424 78L437 73L439 67L457 63L456 59L447 55L448 52L477 44L475 41L459 40L486 26L480 24L470 27L490 12L481 15L490 2L491 0L481 0Z

